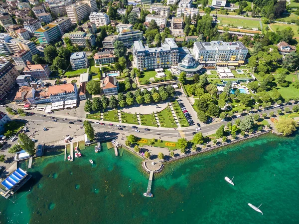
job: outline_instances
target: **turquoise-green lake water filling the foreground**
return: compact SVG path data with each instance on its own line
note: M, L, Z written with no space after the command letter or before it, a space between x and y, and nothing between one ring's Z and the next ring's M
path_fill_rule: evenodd
M167 164L154 177L153 198L143 196L141 160L127 151L115 157L103 144L73 162L44 157L15 203L0 198L0 224L298 224L298 145L298 135L269 134ZM225 176L235 176L235 186ZM264 215L247 203L263 203Z

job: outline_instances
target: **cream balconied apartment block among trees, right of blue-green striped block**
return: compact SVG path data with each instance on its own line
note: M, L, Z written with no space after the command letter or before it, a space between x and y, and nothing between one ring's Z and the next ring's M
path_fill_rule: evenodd
M71 40L72 44L77 44L78 46L86 47L86 40L88 40L91 45L96 45L96 37L92 33L80 31L65 33L62 36L63 41L65 37L68 37Z

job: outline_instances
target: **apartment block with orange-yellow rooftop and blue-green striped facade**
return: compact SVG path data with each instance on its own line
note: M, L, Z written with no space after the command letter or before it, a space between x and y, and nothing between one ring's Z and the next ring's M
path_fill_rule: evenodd
M35 30L34 33L41 44L49 44L61 37L57 24L47 24Z

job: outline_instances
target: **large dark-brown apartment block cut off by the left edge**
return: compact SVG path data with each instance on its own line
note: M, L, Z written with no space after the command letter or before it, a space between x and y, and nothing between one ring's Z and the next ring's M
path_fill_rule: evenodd
M16 67L11 62L0 62L0 98L3 99L14 87L18 75Z

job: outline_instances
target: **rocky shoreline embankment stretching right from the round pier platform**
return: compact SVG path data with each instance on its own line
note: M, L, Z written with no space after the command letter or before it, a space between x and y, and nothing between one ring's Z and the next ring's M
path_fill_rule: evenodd
M231 141L231 142L226 142L226 143L222 143L222 144L219 144L219 145L215 145L215 146L207 147L207 148L204 148L204 149L202 149L202 150L200 150L200 151L195 151L195 152L191 152L191 153L188 153L188 154L185 154L185 155L181 155L181 156L173 157L173 158L171 158L170 160L165 160L165 161L163 161L163 163L166 163L166 162L172 162L172 161L179 160L179 159L182 159L182 158L186 158L186 157L189 157L189 156L194 156L194 155L197 155L197 154L199 154L199 153L204 153L204 152L208 152L208 151L211 151L211 150L214 150L214 149L218 149L218 148L223 147L223 146L228 146L228 145L231 145L231 144L235 144L235 143L237 143L237 142L241 142L241 141L244 141L244 140L247 140L247 139L251 139L251 138L258 137L258 136L260 136L260 135L267 134L267 133L269 133L270 131L271 131L271 130L263 131L263 132L260 132L260 133L256 133L256 134L249 135L249 136L247 136L247 137L242 137L242 138L233 140L233 141Z

